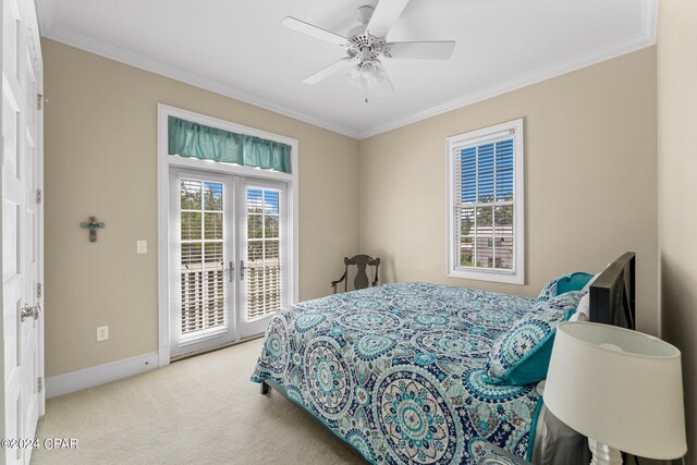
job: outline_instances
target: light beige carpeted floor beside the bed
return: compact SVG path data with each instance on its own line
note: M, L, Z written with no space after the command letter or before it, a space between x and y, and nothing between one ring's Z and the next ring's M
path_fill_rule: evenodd
M359 464L360 457L277 392L249 381L261 340L48 401L36 464Z

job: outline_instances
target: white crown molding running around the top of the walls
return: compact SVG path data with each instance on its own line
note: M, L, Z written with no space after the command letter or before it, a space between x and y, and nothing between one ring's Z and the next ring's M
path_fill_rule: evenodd
M392 120L388 123L374 126L368 131L355 131L353 129L329 124L319 118L274 103L255 94L250 94L236 87L223 84L219 81L188 72L178 66L161 62L151 57L132 52L110 44L96 40L84 35L61 28L53 21L53 5L51 0L37 0L37 13L41 35L49 39L78 48L121 63L129 64L140 70L149 71L175 81L189 84L245 103L254 105L262 109L283 114L305 123L322 127L355 139L364 139L407 124L436 117L478 101L487 100L502 94L510 93L552 77L560 76L586 66L600 63L646 47L656 45L656 30L658 21L658 0L641 1L641 32L622 40L608 44L583 53L566 58L547 66L539 68L528 73L517 75L502 83L482 87L467 93L455 99L440 105L409 113Z

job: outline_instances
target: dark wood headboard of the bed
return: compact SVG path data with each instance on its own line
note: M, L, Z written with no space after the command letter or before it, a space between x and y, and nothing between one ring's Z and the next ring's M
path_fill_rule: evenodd
M590 321L636 329L634 252L614 260L590 285Z

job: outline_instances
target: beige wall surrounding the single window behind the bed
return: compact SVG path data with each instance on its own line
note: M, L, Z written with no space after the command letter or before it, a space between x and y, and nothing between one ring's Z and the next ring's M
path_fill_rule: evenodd
M526 285L447 278L445 137L525 119ZM638 328L658 331L656 49L362 140L360 249L389 281L535 296L637 253Z

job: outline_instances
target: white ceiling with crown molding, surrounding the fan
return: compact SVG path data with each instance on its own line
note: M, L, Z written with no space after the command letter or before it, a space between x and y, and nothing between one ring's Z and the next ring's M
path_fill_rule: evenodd
M388 39L453 39L453 57L384 60L395 91L368 103L341 73L302 84L343 49L279 23L345 34L376 0L37 3L46 37L363 138L650 46L657 0L412 0Z

